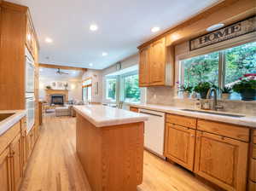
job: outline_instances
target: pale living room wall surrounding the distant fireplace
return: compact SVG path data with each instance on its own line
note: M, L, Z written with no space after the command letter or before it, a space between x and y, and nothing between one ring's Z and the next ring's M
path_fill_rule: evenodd
M75 79L55 79L55 78L39 78L39 99L45 100L45 86L51 82L67 82L68 87L68 100L82 100L82 82L80 78Z

